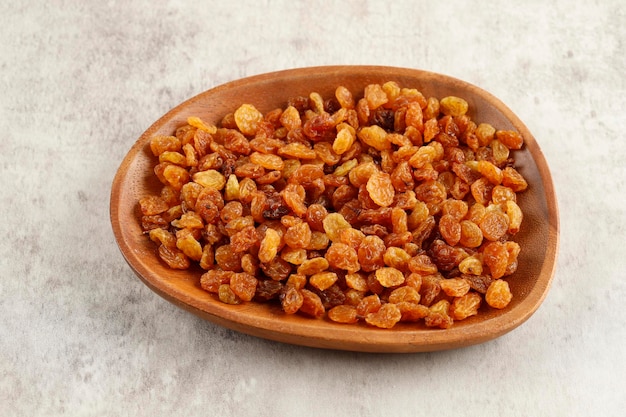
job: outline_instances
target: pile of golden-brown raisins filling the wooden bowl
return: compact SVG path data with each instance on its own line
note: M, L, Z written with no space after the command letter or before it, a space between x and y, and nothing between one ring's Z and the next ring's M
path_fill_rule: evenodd
M380 328L505 308L523 138L467 112L387 82L266 114L243 104L216 125L190 117L151 139L163 188L139 202L143 230L224 303Z

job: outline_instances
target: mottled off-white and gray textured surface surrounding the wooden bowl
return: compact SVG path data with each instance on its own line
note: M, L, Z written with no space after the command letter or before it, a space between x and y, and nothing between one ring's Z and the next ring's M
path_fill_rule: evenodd
M0 39L0 414L626 409L621 1L5 1ZM452 75L525 121L562 231L552 290L527 323L456 351L322 351L204 322L134 277L108 204L135 139L213 86L324 64Z

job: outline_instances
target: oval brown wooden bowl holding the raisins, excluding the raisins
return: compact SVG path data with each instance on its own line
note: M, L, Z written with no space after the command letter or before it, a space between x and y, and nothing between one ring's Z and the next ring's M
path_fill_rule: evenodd
M155 244L142 233L138 200L158 193L160 184L152 168L155 159L149 141L153 135L171 135L198 116L217 123L243 103L261 112L283 107L289 97L313 91L332 97L344 85L355 94L370 83L396 81L417 88L425 96L455 95L470 105L469 115L497 129L515 129L525 139L515 152L516 167L529 183L519 195L524 211L522 246L517 272L507 280L514 294L506 309L481 309L479 315L455 322L445 330L423 324L399 323L383 330L365 324L344 325L326 319L286 315L278 306L244 303L227 305L200 288L201 271L172 270L159 261ZM213 88L175 107L154 123L133 145L113 181L111 223L119 248L137 276L153 291L175 305L213 323L257 337L318 348L368 352L419 352L458 348L499 337L524 323L544 300L552 280L559 240L557 201L544 156L521 120L502 102L466 82L430 72L380 66L301 68L244 78Z

